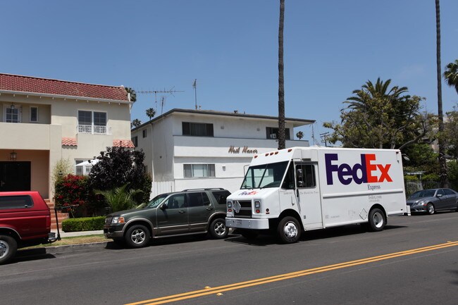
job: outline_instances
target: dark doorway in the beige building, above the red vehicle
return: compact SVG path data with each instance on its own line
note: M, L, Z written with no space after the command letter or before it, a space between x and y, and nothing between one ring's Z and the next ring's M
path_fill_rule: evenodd
M30 190L30 161L0 161L0 192Z

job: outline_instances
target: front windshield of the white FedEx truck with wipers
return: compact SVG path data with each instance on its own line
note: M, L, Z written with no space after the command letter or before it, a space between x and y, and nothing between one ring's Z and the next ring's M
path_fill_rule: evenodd
M240 189L262 189L280 187L287 161L250 166Z

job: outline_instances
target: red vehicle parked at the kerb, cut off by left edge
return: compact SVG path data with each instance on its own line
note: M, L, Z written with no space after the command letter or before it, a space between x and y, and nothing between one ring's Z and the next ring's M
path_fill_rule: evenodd
M55 240L51 212L39 192L0 192L0 264L18 248Z

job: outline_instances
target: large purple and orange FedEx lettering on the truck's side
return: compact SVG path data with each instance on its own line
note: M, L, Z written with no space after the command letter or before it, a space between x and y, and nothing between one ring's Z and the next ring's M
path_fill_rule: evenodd
M361 183L373 182L392 182L388 170L391 164L376 163L376 154L361 154L361 163L356 163L354 166L349 166L347 163L338 165L338 154L325 154L326 162L326 181L328 185L333 185L333 173L336 172L342 185L349 185L352 181L360 185ZM377 176L376 170L380 170L380 176Z

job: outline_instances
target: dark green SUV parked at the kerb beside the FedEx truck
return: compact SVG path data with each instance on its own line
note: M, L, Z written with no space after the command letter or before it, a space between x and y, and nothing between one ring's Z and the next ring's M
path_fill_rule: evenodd
M160 194L143 208L111 213L105 218L104 235L130 247L145 247L151 238L209 232L225 238L226 189L185 189Z

